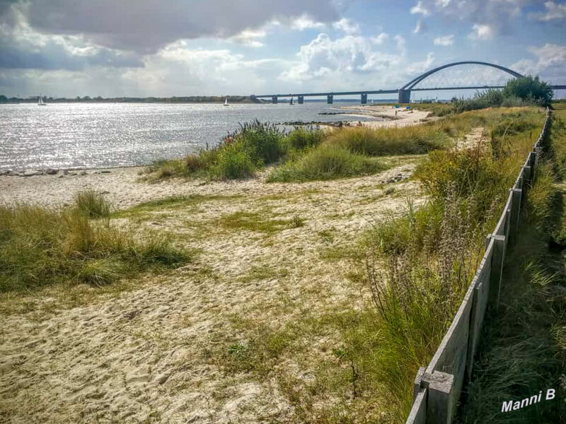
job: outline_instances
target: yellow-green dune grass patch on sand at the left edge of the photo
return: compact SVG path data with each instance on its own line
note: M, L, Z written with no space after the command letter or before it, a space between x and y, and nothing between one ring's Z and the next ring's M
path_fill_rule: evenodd
M110 225L109 211L102 196L91 191L79 192L73 206L59 211L0 206L0 291L103 285L190 260L168 235L146 232L139 238Z

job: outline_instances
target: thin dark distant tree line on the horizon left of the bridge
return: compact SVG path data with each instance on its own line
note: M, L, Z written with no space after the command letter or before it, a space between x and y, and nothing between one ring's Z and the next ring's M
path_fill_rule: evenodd
M86 95L84 97L77 96L76 98L52 98L42 96L43 101L47 103L68 103L68 102L112 102L112 103L224 103L224 99L228 98L229 103L262 103L264 100L259 100L247 95L190 95L185 97L171 98L102 98L100 96L91 98ZM30 96L28 98L8 98L6 95L0 95L0 103L35 103L40 99L40 96Z

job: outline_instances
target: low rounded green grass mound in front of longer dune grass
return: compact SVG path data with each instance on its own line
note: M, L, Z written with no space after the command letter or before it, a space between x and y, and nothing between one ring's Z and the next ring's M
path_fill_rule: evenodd
M338 146L313 148L301 158L274 170L268 182L311 181L369 175L383 170L375 158Z

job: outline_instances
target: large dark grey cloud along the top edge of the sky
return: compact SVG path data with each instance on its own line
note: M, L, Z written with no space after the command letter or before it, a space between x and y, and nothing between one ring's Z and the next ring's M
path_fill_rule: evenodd
M33 28L47 34L83 34L93 44L148 54L170 42L197 37L229 38L278 20L301 16L338 20L332 0L28 0L21 10Z

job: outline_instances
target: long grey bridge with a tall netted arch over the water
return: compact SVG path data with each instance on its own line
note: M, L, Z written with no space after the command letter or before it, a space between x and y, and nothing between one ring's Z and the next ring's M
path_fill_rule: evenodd
M398 95L398 102L400 103L408 103L410 102L411 92L412 91L437 91L437 90L485 90L487 88L503 88L502 85L462 85L456 87L447 87L447 86L438 86L438 87L425 87L421 88L419 86L422 81L426 80L434 73L442 71L443 69L450 68L452 66L460 66L460 65L480 65L480 66L487 66L492 69L498 69L504 73L508 73L514 78L518 78L521 76L519 72L513 71L512 69L506 68L501 65L497 64L490 64L484 61L457 61L451 64L445 64L442 66L438 66L437 68L431 69L427 72L422 73L417 78L413 78L411 81L406 83L401 88L391 89L391 90L363 90L363 91L341 91L337 93L289 93L289 94L265 94L265 95L252 95L252 98L271 98L272 103L277 103L279 98L297 98L297 102L301 105L304 102L304 98L306 97L320 97L326 96L326 102L328 104L332 104L334 102L334 96L340 95L359 95L360 102L362 105L367 103L367 96L369 94L393 94L397 93ZM566 86L552 86L553 90L563 90L566 89Z

